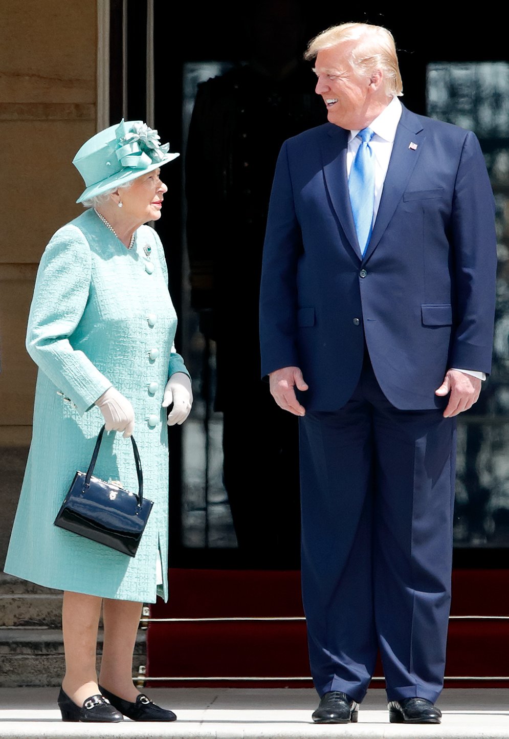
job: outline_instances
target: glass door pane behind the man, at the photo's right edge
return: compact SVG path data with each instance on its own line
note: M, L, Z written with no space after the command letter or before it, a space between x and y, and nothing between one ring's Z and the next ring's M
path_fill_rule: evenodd
M454 542L509 547L509 64L435 62L427 69L428 115L473 130L496 202L497 273L493 369L458 423Z

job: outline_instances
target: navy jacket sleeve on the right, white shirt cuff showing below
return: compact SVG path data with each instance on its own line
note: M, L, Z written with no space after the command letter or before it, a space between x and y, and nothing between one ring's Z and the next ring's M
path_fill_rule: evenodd
M450 367L491 372L496 297L496 233L493 191L479 141L463 143L452 205L457 327Z

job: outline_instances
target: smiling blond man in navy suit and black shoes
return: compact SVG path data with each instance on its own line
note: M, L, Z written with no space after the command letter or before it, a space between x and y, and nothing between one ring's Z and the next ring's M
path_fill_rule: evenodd
M440 723L456 416L491 370L493 194L472 132L401 105L387 30L333 27L307 58L329 123L281 148L260 320L262 372L301 417L312 718L357 721L380 650L390 721ZM366 128L364 243L349 175Z

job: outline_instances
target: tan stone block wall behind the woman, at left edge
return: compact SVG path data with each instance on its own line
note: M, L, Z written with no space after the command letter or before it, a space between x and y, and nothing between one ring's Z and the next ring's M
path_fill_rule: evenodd
M96 130L97 16L97 0L0 3L0 568L32 431L35 274L49 237L82 210L71 162Z

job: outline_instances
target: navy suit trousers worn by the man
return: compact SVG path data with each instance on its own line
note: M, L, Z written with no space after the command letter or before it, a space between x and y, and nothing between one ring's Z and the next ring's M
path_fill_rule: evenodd
M346 406L300 423L302 590L319 695L436 701L451 600L456 420L402 411L366 353Z

